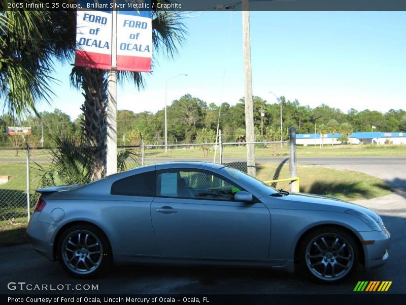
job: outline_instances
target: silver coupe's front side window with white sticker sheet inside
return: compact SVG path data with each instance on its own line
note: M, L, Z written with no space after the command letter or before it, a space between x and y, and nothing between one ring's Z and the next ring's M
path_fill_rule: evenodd
M242 189L215 173L200 170L167 170L156 175L157 196L234 200Z

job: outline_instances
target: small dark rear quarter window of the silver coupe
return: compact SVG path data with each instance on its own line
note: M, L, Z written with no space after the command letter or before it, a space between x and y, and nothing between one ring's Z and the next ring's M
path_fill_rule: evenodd
M113 183L112 195L154 196L155 171L129 176Z

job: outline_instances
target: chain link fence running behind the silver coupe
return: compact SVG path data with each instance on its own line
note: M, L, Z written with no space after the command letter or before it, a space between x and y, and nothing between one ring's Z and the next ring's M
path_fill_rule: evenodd
M262 181L290 178L292 141L253 142L256 177ZM49 185L82 184L93 180L89 159L94 147L0 148L0 225L24 223L36 205L36 189ZM221 163L247 172L246 142L118 146L118 170L170 161ZM103 167L103 165L100 165ZM52 169L52 170L51 170ZM191 177L188 177L191 178ZM273 184L289 188L288 182Z

